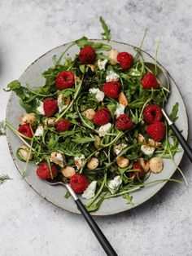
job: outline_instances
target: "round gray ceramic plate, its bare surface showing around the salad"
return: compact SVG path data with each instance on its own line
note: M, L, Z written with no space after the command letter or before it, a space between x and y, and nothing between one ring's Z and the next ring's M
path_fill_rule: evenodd
M96 42L104 42L103 40L94 40ZM48 51L45 55L42 55L39 59L33 62L21 75L20 82L24 85L25 83L29 83L31 86L36 87L39 85L43 85L44 78L41 77L41 73L45 71L47 68L53 65L52 56L53 55L61 55L63 51L67 49L67 47L71 44L67 43L62 46L56 47L55 49ZM134 47L129 44L124 44L121 42L113 42L109 43L113 48L116 48L118 51L128 51L135 54ZM70 56L76 55L78 53L79 48L77 46L72 46L68 50L68 54ZM147 54L143 51L144 59L148 62L154 63L154 58L151 55ZM160 64L159 64L160 65ZM167 111L170 113L172 106L178 102L179 103L179 112L177 119L177 127L179 130L183 130L183 135L185 139L188 135L188 120L186 115L186 109L184 101L181 97L181 94L177 88L176 83L173 81L172 77L169 75L170 80L170 89L171 95L168 99ZM10 99L7 104L7 121L9 121L13 126L18 127L20 122L20 117L24 114L24 109L20 107L19 98L11 93ZM7 141L9 144L11 156L15 163L15 166L20 171L24 170L24 162L19 161L15 157L15 152L17 148L22 144L20 139L18 139L11 130L7 129ZM177 165L181 162L181 158L183 157L183 152L177 152L175 161ZM53 204L59 206L64 210L68 210L70 212L80 214L80 212L76 209L76 204L72 201L72 198L66 199L65 188L63 187L51 187L49 184L45 183L43 180L38 179L35 174L35 170L37 166L33 164L28 165L28 173L25 178L26 182L41 196L43 196L47 201L52 202ZM176 168L172 161L164 160L164 170L160 174L151 174L150 178L147 179L147 182L151 182L155 179L169 179L172 177L172 174L175 172ZM133 202L134 206L141 205L143 202L147 201L151 196L154 196L156 192L159 191L160 188L164 186L165 182L155 183L147 188L142 188L140 191L133 192ZM85 200L83 200L85 202ZM126 204L126 201L122 197L111 198L110 200L103 201L103 204L99 208L98 211L94 212L93 215L110 215L117 214L123 212L125 210L129 210L132 207Z

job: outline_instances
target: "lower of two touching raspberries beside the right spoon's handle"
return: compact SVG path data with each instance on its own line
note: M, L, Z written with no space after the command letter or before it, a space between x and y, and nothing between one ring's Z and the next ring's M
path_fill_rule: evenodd
M157 142L164 139L165 131L164 122L157 121L154 124L146 126L147 135Z

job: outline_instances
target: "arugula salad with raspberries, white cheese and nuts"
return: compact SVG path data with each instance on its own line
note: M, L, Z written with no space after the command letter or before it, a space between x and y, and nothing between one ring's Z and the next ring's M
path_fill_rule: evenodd
M178 149L161 112L168 89L147 67L140 48L132 55L85 37L74 45L79 46L75 57L68 49L53 57L53 66L42 73L44 85L32 89L15 80L7 86L26 111L19 127L7 122L24 142L16 152L26 162L23 175L28 162L37 165L40 179L63 175L89 200L89 211L116 196L133 205L129 193L151 184L151 173L158 177L163 158L174 161ZM172 121L177 110L175 104Z

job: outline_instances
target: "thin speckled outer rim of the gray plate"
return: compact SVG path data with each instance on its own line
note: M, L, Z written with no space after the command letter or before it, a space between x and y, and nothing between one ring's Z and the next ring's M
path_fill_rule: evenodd
M101 42L102 39L89 39L89 41L96 41L96 42L97 42L97 41L100 41L100 42ZM130 47L133 48L133 50L138 49L137 46L133 46L133 45L131 45L131 44L129 44L129 43L119 42L119 41L115 41L115 40L111 40L110 42L107 42L107 43L110 44L110 43L113 43L113 42L114 42L114 43L121 44L121 45L125 45L125 46L130 46ZM53 50L55 50L55 49L57 49L57 48L59 48L59 47L62 47L62 46L67 46L68 44L72 44L72 43L75 43L75 41L63 43L63 44L61 44L61 45L59 45L59 46L56 46L55 48L50 49L50 51L53 51ZM50 51L46 51L46 53L43 54L43 55L41 55L39 58L37 58L37 60L40 60L43 56L45 56L45 55L46 55L47 53L49 53ZM149 54L148 52L143 51L142 49L141 49L141 51L142 51L144 54L148 55L152 60L155 60L155 58L154 58L151 54ZM22 77L23 74L28 70L28 68L30 68L33 64L35 64L35 63L37 62L37 60L34 60L32 64L29 64L28 67L24 69L24 72L21 74L20 77ZM157 61L157 64L158 64L160 67L164 68L164 66L163 66L162 64L160 64L159 61ZM174 83L174 86L177 87L178 93L179 93L179 95L181 96L181 91L179 90L179 88L178 88L178 86L177 86L177 83L176 83L175 80L172 78L172 76L171 76L171 74L168 72L168 70L167 70L166 68L164 68L164 70L168 73L168 77L172 79L172 82ZM20 78L19 78L19 80L20 80ZM8 113L8 110L9 110L9 107L10 107L10 104L11 104L11 99L12 99L13 95L14 95L14 93L11 92L11 95L9 96L9 99L8 99L8 102L7 102L6 121L7 121L7 113ZM182 96L181 96L181 99L182 99ZM183 104L184 104L184 107L185 107L185 101L184 101L184 100L183 100ZM187 123L185 139L187 139L187 138L188 138L188 135L189 135L189 118L188 118L188 113L187 113L187 111L186 111L186 107L185 107L185 117L186 117L186 123ZM15 157L14 157L14 153L12 152L11 141L10 141L10 138L9 138L9 135L8 135L7 130L8 130L8 128L6 129L6 136L7 136L8 148L9 148L9 150L10 150L11 157L12 157L12 160L14 161L15 167L16 167L16 169L19 171L19 173L21 174L20 167L17 166L16 160L15 160ZM182 159L183 155L184 155L184 152L182 152L182 154L181 154L181 157L180 157L180 159L179 159L179 164L181 163L181 159ZM178 164L178 165L179 165L179 164ZM175 171L172 173L172 175L173 175L174 173L175 173ZM25 178L24 178L24 180L25 180L26 183L28 183L28 185L29 185L31 188L33 188L33 185L30 183L30 181L28 181L28 180L25 179ZM131 210L131 209L137 207L138 205L142 205L142 203L144 203L145 201L148 201L149 199L151 199L151 197L155 196L155 195L159 192L159 190L164 187L164 185L165 185L166 183L167 183L167 181L161 182L160 185L159 185L159 189L158 189L155 193L153 193L151 196L147 197L147 199L144 198L144 199L142 199L141 201L137 202L137 205L133 205L133 207L131 207L131 208L124 207L123 209L121 208L120 210L113 210L113 211L108 212L108 213L106 213L106 214L97 214L97 211L96 211L96 212L93 212L93 213L90 213L90 214L95 215L95 216L108 216L108 215L120 214L120 213L123 213L123 212L125 212L125 211ZM62 206L61 206L61 205L58 205L56 202L50 201L50 199L48 199L46 196L43 196L43 195L41 194L41 192L38 192L38 191L37 191L37 189L33 188L33 190L34 190L35 192L37 192L37 194L39 194L40 196L42 196L44 199L46 199L46 201L49 201L50 203L52 203L53 205L59 207L59 208L62 209L62 210L67 210L67 211L69 211L69 212L71 212L71 213L73 213L73 214L81 214L81 212L78 211L77 209L76 209L76 210L72 210L72 209L69 209L67 205L64 205L64 206L63 206L63 205L62 205Z

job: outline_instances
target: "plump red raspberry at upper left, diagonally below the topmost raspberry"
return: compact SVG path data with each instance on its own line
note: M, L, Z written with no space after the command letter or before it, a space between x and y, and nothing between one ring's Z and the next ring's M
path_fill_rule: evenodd
M56 78L56 87L58 90L71 88L75 82L74 74L71 71L62 71Z

